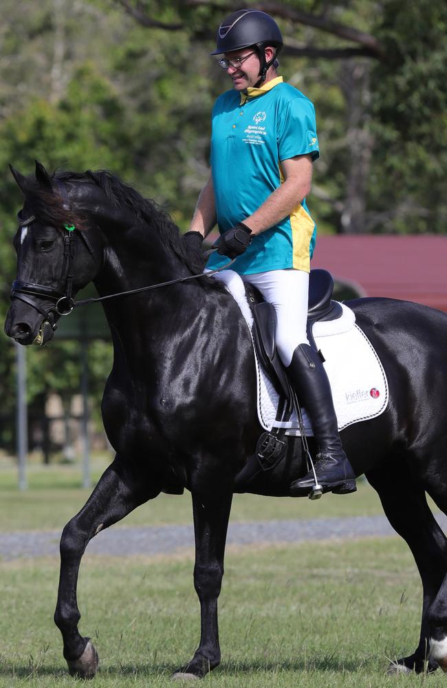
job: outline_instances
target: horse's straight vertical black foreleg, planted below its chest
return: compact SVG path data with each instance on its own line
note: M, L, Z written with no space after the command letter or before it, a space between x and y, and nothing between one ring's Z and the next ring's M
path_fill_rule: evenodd
M201 678L220 663L217 598L223 577L232 493L203 497L193 493L195 532L194 587L200 602L199 647L174 678Z

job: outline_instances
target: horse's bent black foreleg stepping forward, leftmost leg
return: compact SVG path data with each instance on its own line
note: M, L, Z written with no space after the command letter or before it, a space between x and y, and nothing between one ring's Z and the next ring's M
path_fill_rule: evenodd
M80 560L89 540L100 530L124 518L136 506L156 497L145 476L117 458L102 474L80 512L65 526L61 537L61 574L54 621L63 638L63 654L72 676L96 674L98 655L89 638L78 632L80 612L76 597Z

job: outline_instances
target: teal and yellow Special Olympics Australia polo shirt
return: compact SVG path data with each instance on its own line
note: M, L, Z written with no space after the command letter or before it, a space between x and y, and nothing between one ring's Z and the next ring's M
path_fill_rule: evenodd
M222 234L252 215L284 181L281 161L319 155L315 110L309 98L276 77L247 94L234 89L212 109L210 164L217 224ZM295 268L310 270L316 225L305 200L281 222L256 235L231 266L241 275ZM228 258L213 253L207 268Z

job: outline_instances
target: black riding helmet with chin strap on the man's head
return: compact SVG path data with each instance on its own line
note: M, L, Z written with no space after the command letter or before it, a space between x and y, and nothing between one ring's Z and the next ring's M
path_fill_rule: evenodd
M264 48L267 45L276 47L276 53L270 61L265 61ZM238 10L223 19L217 31L217 47L211 55L221 55L232 50L253 46L259 56L261 69L259 83L265 79L270 65L278 66L276 57L283 47L283 36L276 21L269 14L260 10Z

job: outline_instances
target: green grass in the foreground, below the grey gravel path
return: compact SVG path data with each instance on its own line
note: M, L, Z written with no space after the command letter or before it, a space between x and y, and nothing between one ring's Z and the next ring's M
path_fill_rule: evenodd
M57 561L0 563L0 686L62 688L67 675L52 623ZM86 555L80 630L101 668L92 688L171 686L199 637L192 555ZM443 675L386 677L413 652L421 586L397 538L229 548L220 598L223 661L215 688L445 685ZM182 684L180 684L182 685Z

